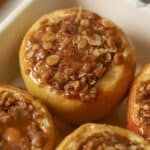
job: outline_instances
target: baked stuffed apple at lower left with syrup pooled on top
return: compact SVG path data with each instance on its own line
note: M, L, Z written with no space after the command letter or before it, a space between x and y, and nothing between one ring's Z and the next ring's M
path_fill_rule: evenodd
M52 118L39 100L0 84L1 150L53 150L54 135Z

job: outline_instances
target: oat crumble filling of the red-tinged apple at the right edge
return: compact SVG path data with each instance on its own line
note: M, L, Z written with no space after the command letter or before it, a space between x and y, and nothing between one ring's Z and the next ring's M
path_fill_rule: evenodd
M137 91L137 102L140 105L140 123L145 126L149 134L150 130L150 80L142 81ZM145 132L146 133L146 132Z

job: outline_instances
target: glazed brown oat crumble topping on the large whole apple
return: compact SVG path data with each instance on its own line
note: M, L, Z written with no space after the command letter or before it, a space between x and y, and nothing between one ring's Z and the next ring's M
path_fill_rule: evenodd
M111 21L80 8L67 13L41 21L30 35L25 71L39 86L89 102L111 63L122 63L124 44Z

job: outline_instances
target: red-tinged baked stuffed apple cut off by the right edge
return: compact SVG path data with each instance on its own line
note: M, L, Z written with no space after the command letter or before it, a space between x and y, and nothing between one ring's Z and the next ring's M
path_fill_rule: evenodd
M128 128L150 140L150 64L133 82L127 108Z

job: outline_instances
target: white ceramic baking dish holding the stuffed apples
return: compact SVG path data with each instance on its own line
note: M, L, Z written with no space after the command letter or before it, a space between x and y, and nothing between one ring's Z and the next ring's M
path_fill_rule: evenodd
M136 0L135 0L136 1ZM0 10L0 81L23 86L19 74L18 51L31 24L41 15L67 7L81 6L112 19L124 30L135 46L137 66L150 61L150 11L130 0L11 0L8 10ZM7 8L6 7L6 8ZM11 8L11 9L10 9ZM144 11L143 11L144 10ZM125 103L125 102L124 102ZM120 113L121 110L121 113ZM119 112L119 113L118 113ZM121 114L121 115L120 115ZM114 119L115 118L115 119ZM124 125L124 104L109 123Z

